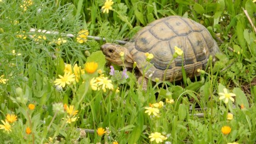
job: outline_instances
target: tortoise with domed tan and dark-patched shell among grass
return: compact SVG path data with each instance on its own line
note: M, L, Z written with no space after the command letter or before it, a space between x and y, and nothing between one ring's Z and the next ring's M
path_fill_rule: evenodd
M183 50L184 59L178 56L169 65L175 53L174 47ZM189 78L199 76L197 69L205 69L210 55L220 52L218 44L212 38L205 26L195 21L180 16L168 16L157 19L137 32L134 38L121 46L114 43L105 43L101 46L105 59L122 66L120 52L124 52L124 65L132 68L134 62L142 74L148 64L146 53L152 53L154 58L150 61L152 66L147 69L145 77L163 81L166 71L166 81L182 79L181 66L184 65ZM168 69L166 69L168 67Z

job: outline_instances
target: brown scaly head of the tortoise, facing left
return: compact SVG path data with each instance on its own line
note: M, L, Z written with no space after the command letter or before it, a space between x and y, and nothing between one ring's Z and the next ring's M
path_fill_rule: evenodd
M129 50L124 46L119 44L106 43L103 44L100 48L108 61L119 66L123 65L120 52L124 52L124 65L125 67L132 68L134 61Z

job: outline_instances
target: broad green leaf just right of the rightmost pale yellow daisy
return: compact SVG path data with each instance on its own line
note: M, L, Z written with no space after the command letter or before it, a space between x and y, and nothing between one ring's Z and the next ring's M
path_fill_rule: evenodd
M245 108L249 108L249 103L247 100L247 96L240 88L234 88L233 93L235 93L235 100L237 101L237 105L243 105Z

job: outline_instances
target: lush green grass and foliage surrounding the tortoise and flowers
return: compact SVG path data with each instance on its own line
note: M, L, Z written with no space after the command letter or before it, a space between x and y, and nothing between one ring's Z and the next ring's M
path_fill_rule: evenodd
M8 114L18 116L9 133L0 130L0 141L156 143L149 138L155 132L166 136L166 143L256 141L256 31L242 9L247 10L255 26L256 4L252 0L116 0L109 14L102 12L103 0L34 0L33 4L27 3L26 11L21 0L0 3L0 120L5 120ZM196 80L183 80L180 85L167 81L151 85L149 81L147 91L141 90L132 71L124 79L122 68L114 66L119 71L109 75L109 64L100 52L104 41L87 39L77 43L81 29L112 43L113 39L131 39L143 26L171 15L203 24L213 38L220 39L216 41L222 52L206 73ZM29 31L31 28L59 33L38 33ZM31 36L46 39L35 41ZM67 43L50 44L58 38L66 39ZM65 88L55 86L58 75L64 75L65 63L84 69L85 63L93 61L99 64L95 73L85 71L77 83ZM90 81L99 78L99 69L111 80L113 90L92 90ZM4 79L8 81L3 83ZM226 105L219 100L219 93L225 88L235 93L235 102ZM174 103L167 103L166 98ZM147 115L146 108L159 101L164 102L159 115ZM72 123L65 120L69 116L67 111L61 112L65 103L78 110L77 120ZM35 110L29 110L29 104L35 105ZM228 113L233 114L233 120L227 120ZM224 135L222 126L230 126L231 132ZM97 135L100 127L108 128L109 132ZM31 133L26 133L26 128ZM81 130L87 134L81 134Z

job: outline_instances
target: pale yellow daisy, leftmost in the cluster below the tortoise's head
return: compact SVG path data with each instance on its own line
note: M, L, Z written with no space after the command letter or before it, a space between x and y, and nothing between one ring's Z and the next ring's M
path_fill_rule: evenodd
M64 76L58 75L60 78L56 79L54 81L55 86L62 86L62 88L65 87L65 85L70 85L73 81L75 81L75 75L70 75L70 73L65 73Z

